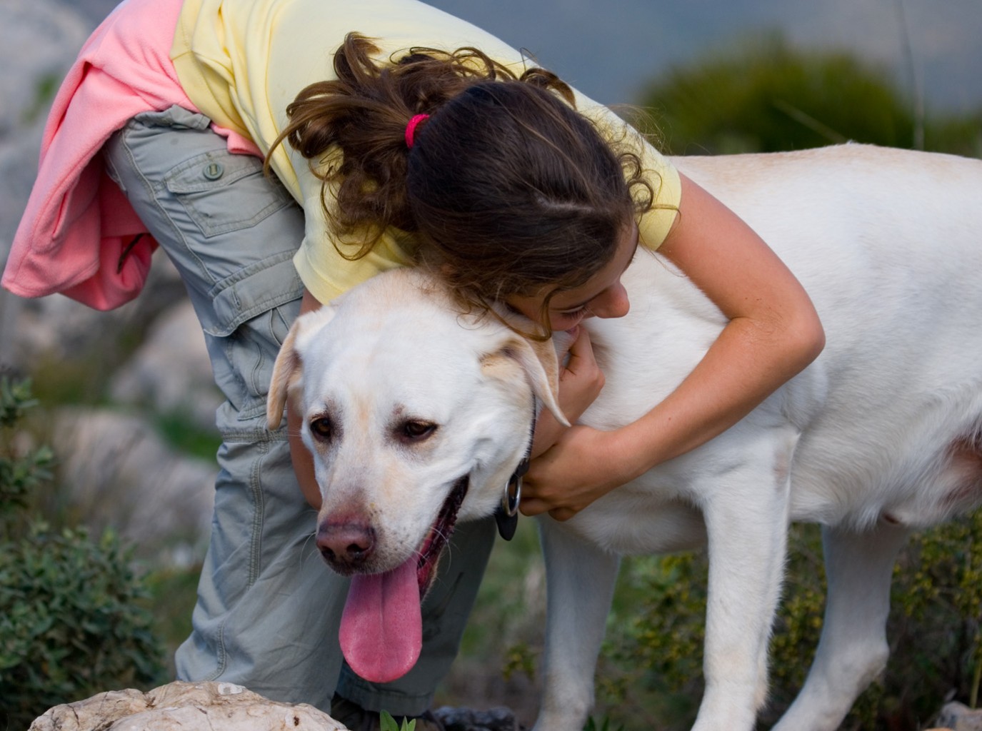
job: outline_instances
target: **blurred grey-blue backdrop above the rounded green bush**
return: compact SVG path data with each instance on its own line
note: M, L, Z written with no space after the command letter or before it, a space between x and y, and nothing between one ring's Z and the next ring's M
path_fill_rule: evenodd
M357 0L352 0L357 2ZM112 0L70 0L96 17ZM890 70L929 109L982 108L982 0L430 0L606 104L718 48L779 32Z

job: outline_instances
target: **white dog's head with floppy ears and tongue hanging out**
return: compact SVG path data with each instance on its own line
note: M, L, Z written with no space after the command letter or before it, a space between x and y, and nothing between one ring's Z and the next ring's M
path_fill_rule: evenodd
M405 617L414 602L418 612L455 522L499 505L528 448L535 399L565 421L557 378L552 343L460 314L414 270L379 275L298 319L274 368L269 424L279 425L289 396L322 499L317 546L332 568L355 577L350 605ZM383 596L399 608L367 609ZM385 634L364 621L349 622L357 636L349 646ZM402 618L385 622L399 625L390 634L407 630ZM346 657L382 682L396 672L391 662L349 651L385 645L392 653L392 642L349 647Z

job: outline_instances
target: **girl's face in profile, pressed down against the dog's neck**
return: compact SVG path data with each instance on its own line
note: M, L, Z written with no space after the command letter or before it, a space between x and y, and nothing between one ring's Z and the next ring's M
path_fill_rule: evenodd
M627 301L627 290L621 284L621 275L627 270L636 250L637 226L632 224L618 241L614 257L603 269L579 287L564 289L553 295L546 315L549 327L553 331L573 330L586 317L627 315L630 303ZM511 294L505 297L505 302L529 320L539 322L543 317L542 303L548 293L548 289L543 289L530 296Z

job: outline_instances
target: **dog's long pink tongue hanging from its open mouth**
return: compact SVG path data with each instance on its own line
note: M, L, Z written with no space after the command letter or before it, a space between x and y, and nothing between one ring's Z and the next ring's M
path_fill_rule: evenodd
M341 652L355 672L388 683L412 669L422 650L416 557L384 574L355 575L341 617Z

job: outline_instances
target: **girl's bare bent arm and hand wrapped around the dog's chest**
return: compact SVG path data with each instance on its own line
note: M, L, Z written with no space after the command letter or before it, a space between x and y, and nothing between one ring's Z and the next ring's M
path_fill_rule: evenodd
M682 201L659 251L730 322L676 391L627 426L566 430L533 460L526 515L566 520L655 465L736 424L821 352L825 335L791 272L726 206L682 177Z

